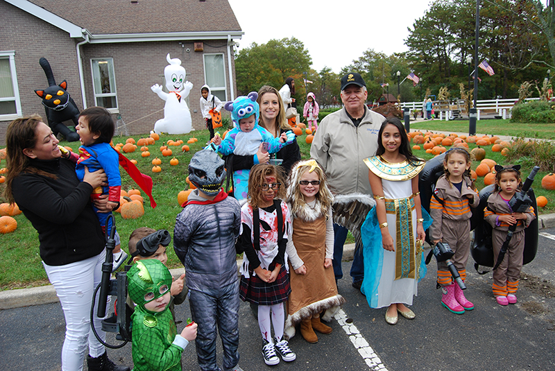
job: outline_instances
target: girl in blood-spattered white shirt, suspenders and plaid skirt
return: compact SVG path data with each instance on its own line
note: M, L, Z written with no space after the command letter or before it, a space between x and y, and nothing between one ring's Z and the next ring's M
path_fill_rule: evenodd
M289 207L284 198L284 180L275 166L256 165L248 178L248 202L241 207L241 236L244 250L239 295L258 304L258 325L264 339L262 354L266 365L280 359L293 361L296 354L284 339L283 303L291 293L285 266L285 248L291 229ZM271 320L274 338L271 336Z

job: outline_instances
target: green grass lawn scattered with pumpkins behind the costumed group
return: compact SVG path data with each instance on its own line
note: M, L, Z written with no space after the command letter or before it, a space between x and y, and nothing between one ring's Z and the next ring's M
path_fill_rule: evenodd
M451 126L452 123L453 121L450 121L446 123L446 125ZM426 126L423 126L422 128L429 128L432 130L430 126L436 125L436 123L427 122L425 125ZM416 126L413 126L413 128L416 128ZM434 128L433 130L444 129ZM445 130L465 131L452 127ZM167 141L168 139L183 139L187 142L187 139L192 137L193 133L195 137L198 138L198 141L195 144L189 144L189 147L191 148L189 152L181 153L181 146L175 146L171 147L174 153L173 156L162 157L160 153L160 146L162 146L164 141ZM144 137L144 135L133 135L132 137L137 140L140 137ZM124 220L119 214L114 214L116 225L121 236L121 247L124 250L127 251L127 243L130 233L138 227L152 227L155 230L164 228L173 234L173 226L175 225L176 216L181 211L181 207L178 205L177 195L179 191L187 189L187 183L185 182L185 178L187 178L188 175L187 165L189 164L189 160L194 153L203 147L203 145L208 141L208 138L209 133L207 130L191 132L188 135L164 135L159 141L156 142L156 144L148 146L151 152L150 157L141 157L139 148L137 148L137 151L134 153L126 154L126 157L129 159L137 160L137 167L140 171L142 171L142 173L152 177L154 183L153 196L157 202L157 207L152 209L148 202L148 198L143 194L145 198L144 216L138 219ZM114 137L114 144L125 142L126 139L127 137ZM302 135L298 138L300 152L302 158L304 159L308 158L310 153L310 145L306 143L305 139L306 135ZM74 150L77 150L78 148L78 144L76 143L62 142L61 144L70 146ZM471 146L471 148L473 148L473 146ZM494 159L499 164L505 164L505 158L502 155L491 152L490 148L485 149L487 153L486 157ZM415 154L418 157L423 157L425 159L432 158L432 155L425 153L424 150L416 150ZM151 169L153 165L151 162L154 157L162 159L161 173L152 173ZM179 164L177 166L170 166L169 164L170 159L173 157L179 159ZM3 162L0 166L5 166L5 163ZM475 169L476 166L477 163L472 164L472 169ZM522 173L527 175L529 170L530 169L523 169ZM540 212L555 212L555 191L545 191L539 186L540 180L545 174L546 173L538 174L536 182L534 183L536 185L534 189L536 190L537 196L543 195L549 200L547 207L545 207L544 210L540 210ZM121 177L123 184L122 189L127 190L132 187L137 187L135 182L133 182L133 180L131 180L124 171L122 171ZM484 187L483 178L479 178L477 181L477 187L479 189ZM4 188L5 184L0 184L0 193L3 192ZM0 201L6 202L3 196L0 196ZM0 290L48 284L46 273L44 273L44 268L39 256L37 232L23 214L15 216L15 219L18 224L17 230L10 234L0 234L0 246L2 247L0 255L0 272L3 273L0 275ZM352 243L352 238L348 239L347 242ZM172 245L169 246L167 252L169 257L168 266L170 268L182 267L182 264L178 261L176 254L173 252Z

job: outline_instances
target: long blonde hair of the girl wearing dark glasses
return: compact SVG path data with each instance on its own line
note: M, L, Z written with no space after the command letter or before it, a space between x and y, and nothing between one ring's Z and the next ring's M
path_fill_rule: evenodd
M327 188L327 177L315 159L299 161L294 164L291 169L291 174L289 175L289 187L287 188L287 202L291 204L291 213L296 217L300 210L307 205L305 197L300 192L299 183L300 178L302 178L302 175L304 175L307 171L314 171L316 175L318 175L318 179L320 180L320 189L318 189L318 193L316 193L316 200L320 202L322 214L327 216L330 212L330 207L332 207L334 196L332 196L330 189Z

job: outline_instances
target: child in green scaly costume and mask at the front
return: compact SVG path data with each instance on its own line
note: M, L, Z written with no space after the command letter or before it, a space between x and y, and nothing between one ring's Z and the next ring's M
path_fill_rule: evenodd
M133 316L134 371L181 370L181 353L196 338L196 323L177 333L168 304L171 273L156 259L137 261L127 273Z

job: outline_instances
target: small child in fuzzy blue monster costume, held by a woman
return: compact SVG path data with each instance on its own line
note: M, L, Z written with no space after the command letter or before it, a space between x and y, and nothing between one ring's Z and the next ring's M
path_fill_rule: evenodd
M293 132L283 133L274 138L268 130L258 125L260 107L256 101L258 94L250 92L248 96L239 96L234 101L225 103L225 110L231 112L234 128L225 139L214 137L212 142L223 155L255 155L262 142L268 144L268 153L278 153L280 149L293 142ZM255 164L257 164L255 157ZM246 200L248 191L248 174L250 169L233 172L233 194L237 200Z

